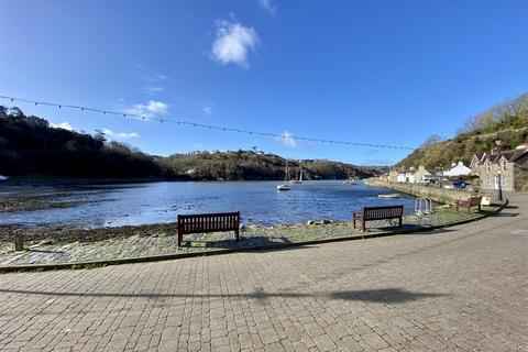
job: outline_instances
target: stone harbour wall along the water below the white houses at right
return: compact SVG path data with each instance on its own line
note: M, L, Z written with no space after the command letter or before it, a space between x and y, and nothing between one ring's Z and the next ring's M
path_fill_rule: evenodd
M414 184L400 184L381 180L377 178L365 179L365 184L370 186L385 187L416 197L428 197L437 202L454 202L458 199L468 199L471 193L460 189L446 189L428 186L419 186Z

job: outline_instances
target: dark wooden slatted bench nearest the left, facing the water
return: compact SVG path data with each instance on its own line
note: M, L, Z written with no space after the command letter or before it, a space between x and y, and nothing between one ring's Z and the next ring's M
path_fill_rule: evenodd
M200 215L178 215L178 246L182 246L184 234L234 231L239 241L240 211Z

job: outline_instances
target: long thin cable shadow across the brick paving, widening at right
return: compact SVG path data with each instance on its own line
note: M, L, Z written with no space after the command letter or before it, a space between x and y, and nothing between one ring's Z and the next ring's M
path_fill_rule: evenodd
M265 300L267 298L322 298L332 300L359 300L370 302L383 302L383 304L404 304L406 301L419 300L428 297L441 297L447 296L444 294L430 294L430 293L413 293L400 288L381 288L381 289L362 289L362 290L336 290L330 293L314 293L314 294L300 294L300 293L268 293L263 288L256 288L255 292L250 294L154 294L154 293L69 293L69 292L46 292L46 290L25 290L25 289L6 289L0 288L2 294L16 294L16 295L36 295L36 296L59 296L59 297L111 297L111 298L253 298L257 300Z

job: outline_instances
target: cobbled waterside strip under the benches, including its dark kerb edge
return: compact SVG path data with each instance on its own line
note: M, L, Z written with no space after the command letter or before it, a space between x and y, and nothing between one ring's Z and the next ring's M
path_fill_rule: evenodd
M427 233L454 224L493 216L501 206L483 207L468 213L453 207L440 208L433 215L404 217L404 227L387 227L386 221L369 222L366 232L353 228L350 221L328 224L299 224L274 228L248 228L240 242L232 232L186 235L184 245L177 245L176 223L146 227L78 231L80 241L26 241L24 251L13 251L12 243L0 244L0 272L51 268L78 268L121 263L160 261L189 256L213 255L240 251L286 249L318 245L336 241L363 240L377 237ZM112 233L108 232L113 230ZM102 232L101 232L102 231ZM91 238L86 233L91 232ZM74 233L75 234L75 233ZM120 237L117 237L119 234ZM53 235L47 233L48 238ZM99 238L97 237L99 235ZM69 241L76 240L69 238Z

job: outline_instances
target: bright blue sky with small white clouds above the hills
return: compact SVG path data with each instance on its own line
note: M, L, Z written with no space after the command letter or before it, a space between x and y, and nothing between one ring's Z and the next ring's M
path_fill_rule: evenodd
M2 0L0 94L417 146L528 90L527 15L525 0ZM18 106L161 155L256 146L391 164L407 154Z

